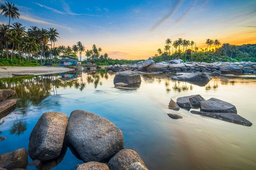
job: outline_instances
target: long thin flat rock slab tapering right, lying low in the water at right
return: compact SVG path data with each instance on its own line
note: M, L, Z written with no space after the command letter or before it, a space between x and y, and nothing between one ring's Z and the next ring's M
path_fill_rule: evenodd
M206 116L206 117L212 117L215 119L227 121L230 123L240 124L240 125L244 125L244 126L252 125L252 123L249 120L247 120L247 119L243 118L242 116L235 114L235 113L216 113L216 112L203 112L203 111L195 111L195 110L191 110L190 112L193 114L199 114L199 115Z

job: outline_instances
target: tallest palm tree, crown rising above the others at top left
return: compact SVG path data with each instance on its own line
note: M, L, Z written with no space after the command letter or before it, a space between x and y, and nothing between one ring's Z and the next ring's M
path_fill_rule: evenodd
M19 18L20 14L18 12L19 9L15 7L13 3L5 2L5 5L0 5L0 9L2 10L1 14L4 14L5 17L9 17L9 26L8 26L8 31L9 31L11 18L13 20L16 18Z

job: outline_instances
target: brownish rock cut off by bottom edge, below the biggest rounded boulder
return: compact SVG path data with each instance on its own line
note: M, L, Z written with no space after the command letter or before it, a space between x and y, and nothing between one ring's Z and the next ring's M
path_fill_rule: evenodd
M86 162L76 166L76 170L109 170L108 166L100 162Z

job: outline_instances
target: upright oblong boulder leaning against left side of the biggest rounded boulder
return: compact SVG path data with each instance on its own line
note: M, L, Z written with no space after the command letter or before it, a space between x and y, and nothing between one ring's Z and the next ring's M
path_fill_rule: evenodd
M68 116L59 112L45 112L33 128L28 153L34 159L45 161L60 155Z

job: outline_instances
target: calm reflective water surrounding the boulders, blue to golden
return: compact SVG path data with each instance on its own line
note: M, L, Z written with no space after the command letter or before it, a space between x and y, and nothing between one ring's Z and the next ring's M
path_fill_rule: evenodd
M105 70L0 79L0 88L16 90L17 107L0 117L0 154L28 149L29 136L42 113L82 109L105 117L120 128L124 147L139 153L150 170L256 169L255 75L215 77L207 85L174 82L168 75L141 75L136 90L113 88ZM168 109L170 98L200 94L234 104L251 127ZM183 119L171 119L178 113ZM31 158L29 158L31 162ZM82 161L67 148L43 169L75 169ZM35 169L28 166L27 169Z

